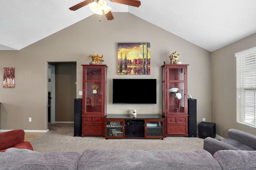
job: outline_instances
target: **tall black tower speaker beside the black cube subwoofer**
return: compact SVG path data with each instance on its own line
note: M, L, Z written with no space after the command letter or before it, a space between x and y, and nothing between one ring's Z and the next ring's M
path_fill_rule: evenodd
M196 99L188 99L188 137L197 137Z

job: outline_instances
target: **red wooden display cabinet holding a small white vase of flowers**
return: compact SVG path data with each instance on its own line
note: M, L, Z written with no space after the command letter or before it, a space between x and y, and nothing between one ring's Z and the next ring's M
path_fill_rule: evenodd
M82 137L102 135L104 137L104 117L106 116L106 65L83 66L82 97ZM92 85L98 89L93 91Z

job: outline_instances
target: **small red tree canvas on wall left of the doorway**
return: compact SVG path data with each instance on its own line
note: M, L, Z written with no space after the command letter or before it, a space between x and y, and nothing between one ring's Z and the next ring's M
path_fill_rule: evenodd
M4 67L4 88L14 88L14 67Z

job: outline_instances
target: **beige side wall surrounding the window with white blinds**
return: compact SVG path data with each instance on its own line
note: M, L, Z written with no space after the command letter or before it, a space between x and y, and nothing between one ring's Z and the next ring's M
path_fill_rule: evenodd
M216 133L226 138L235 128L256 135L256 129L236 123L236 57L235 53L256 47L256 34L211 53L212 122Z

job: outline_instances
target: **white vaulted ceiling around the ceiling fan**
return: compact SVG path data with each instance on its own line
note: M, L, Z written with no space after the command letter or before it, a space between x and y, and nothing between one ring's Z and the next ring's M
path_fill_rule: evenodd
M82 1L0 0L0 50L20 50L91 16L88 6L68 9ZM130 12L208 51L256 33L256 0L140 0L139 8L106 1L112 12Z

